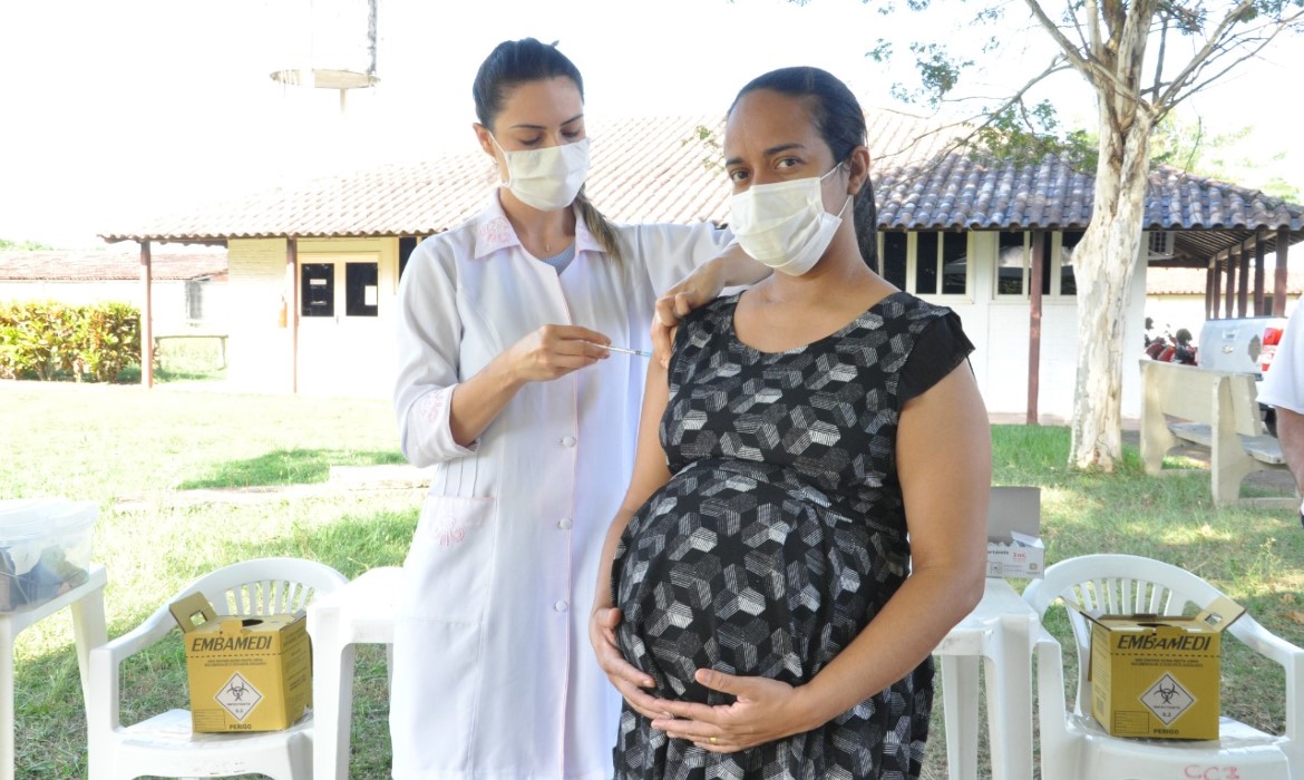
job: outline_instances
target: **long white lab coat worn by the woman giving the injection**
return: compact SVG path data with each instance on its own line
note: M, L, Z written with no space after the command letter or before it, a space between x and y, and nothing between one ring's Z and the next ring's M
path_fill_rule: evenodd
M629 487L648 360L612 353L532 382L471 447L452 441L449 399L542 325L651 348L653 291L719 254L729 233L617 226L617 263L576 222L575 260L558 275L524 250L494 197L422 241L399 286L403 453L437 468L395 630L398 780L612 776L619 695L593 659L588 614Z

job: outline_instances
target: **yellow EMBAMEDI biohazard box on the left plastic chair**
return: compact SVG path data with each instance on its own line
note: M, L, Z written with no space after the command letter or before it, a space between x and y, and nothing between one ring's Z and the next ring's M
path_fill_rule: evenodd
M170 607L185 634L196 732L274 732L312 704L308 618L218 616L203 593Z

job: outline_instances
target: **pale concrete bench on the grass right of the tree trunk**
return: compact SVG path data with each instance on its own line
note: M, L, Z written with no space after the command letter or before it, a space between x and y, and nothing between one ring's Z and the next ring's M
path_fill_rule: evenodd
M1145 359L1141 393L1146 473L1167 473L1163 458L1183 442L1208 447L1214 503L1226 505L1240 501L1240 484L1251 472L1286 468L1281 442L1260 419L1253 376Z

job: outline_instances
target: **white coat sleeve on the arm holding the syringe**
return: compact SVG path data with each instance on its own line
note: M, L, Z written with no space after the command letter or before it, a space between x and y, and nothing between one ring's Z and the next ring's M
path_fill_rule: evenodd
M451 247L428 239L412 252L399 282L394 412L403 455L419 467L476 450L455 442L449 427L462 344L455 275Z

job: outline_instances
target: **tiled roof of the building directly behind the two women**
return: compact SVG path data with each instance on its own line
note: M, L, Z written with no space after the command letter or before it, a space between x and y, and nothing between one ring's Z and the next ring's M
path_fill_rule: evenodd
M977 159L958 130L892 110L868 115L879 224L885 230L1084 230L1094 179L1048 157L1037 164ZM699 133L705 130L705 136ZM724 222L721 117L655 116L593 123L592 201L617 222ZM256 192L103 233L108 241L222 241L271 236L424 236L482 206L494 181L477 149ZM1158 167L1148 230L1304 228L1304 207L1261 192Z

